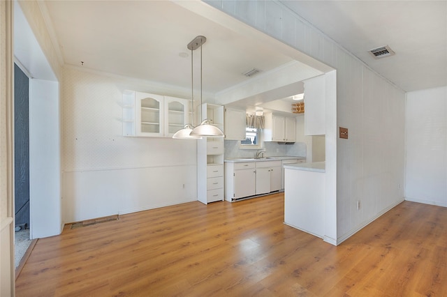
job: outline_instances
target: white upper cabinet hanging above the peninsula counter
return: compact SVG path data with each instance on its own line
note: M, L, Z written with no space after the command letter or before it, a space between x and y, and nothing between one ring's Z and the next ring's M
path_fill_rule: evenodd
M325 76L305 83L305 135L325 135Z

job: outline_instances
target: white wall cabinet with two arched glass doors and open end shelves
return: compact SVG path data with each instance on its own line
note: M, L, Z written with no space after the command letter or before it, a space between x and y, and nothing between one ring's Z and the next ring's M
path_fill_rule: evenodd
M172 137L189 121L189 100L137 91L123 93L123 135Z

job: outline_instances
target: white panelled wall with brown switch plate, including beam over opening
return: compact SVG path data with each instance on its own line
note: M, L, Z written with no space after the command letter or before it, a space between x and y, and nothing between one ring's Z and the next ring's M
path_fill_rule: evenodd
M336 207L337 218L326 229L336 229L337 244L403 201L404 91L277 1L205 2L337 70L325 154L326 174L336 169L326 207ZM335 138L338 126L349 128L349 139Z

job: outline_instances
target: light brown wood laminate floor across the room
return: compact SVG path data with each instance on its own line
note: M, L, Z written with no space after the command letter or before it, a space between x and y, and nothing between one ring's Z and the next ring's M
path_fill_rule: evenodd
M280 193L67 226L16 296L447 296L447 208L404 201L338 247L283 221Z

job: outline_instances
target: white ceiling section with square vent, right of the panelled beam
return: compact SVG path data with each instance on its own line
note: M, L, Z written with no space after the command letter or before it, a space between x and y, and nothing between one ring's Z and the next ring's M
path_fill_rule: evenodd
M447 85L445 0L281 3L404 91ZM395 56L374 59L368 53L383 45Z

